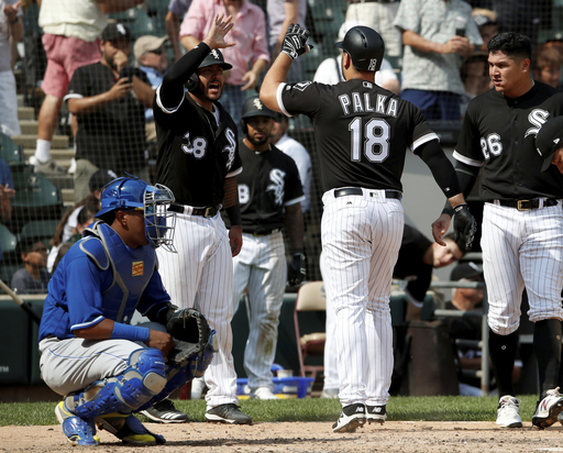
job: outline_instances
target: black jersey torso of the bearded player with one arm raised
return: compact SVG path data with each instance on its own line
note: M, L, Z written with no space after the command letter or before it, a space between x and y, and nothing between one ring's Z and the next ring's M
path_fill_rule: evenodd
M156 90L156 183L167 186L180 205L220 205L227 175L241 172L236 125L220 102L214 107L219 109L219 124L188 91L176 109L166 109L159 88Z

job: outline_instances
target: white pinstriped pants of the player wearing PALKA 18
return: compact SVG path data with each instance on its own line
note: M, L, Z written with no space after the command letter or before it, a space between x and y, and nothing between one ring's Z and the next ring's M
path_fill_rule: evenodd
M336 314L340 401L383 406L393 373L389 308L393 268L397 262L405 216L385 190L362 196L322 196L322 251L327 292Z

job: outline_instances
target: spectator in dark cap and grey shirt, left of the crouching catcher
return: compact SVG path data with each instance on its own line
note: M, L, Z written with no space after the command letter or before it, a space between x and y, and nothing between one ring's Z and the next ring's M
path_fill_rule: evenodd
M23 267L12 277L12 289L20 295L47 292L51 274L45 269L47 247L38 237L24 237L18 243Z

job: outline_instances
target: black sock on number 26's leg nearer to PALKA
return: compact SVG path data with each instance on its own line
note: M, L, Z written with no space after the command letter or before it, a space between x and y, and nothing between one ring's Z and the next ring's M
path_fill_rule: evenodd
M498 396L515 396L512 371L515 367L517 344L518 335L516 332L509 335L499 335L489 329L488 349L490 351L493 373L497 380Z

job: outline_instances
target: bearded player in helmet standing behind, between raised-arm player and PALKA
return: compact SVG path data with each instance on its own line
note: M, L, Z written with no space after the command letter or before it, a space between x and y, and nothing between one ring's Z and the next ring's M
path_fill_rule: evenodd
M305 200L295 161L271 145L275 113L257 96L242 108L239 142L243 172L238 176L243 247L233 259L234 312L249 289L250 333L244 351L251 398L277 399L271 372L277 344L279 312L286 281L299 285L305 277ZM227 216L225 223L230 224ZM286 228L292 259L286 265L282 229Z

